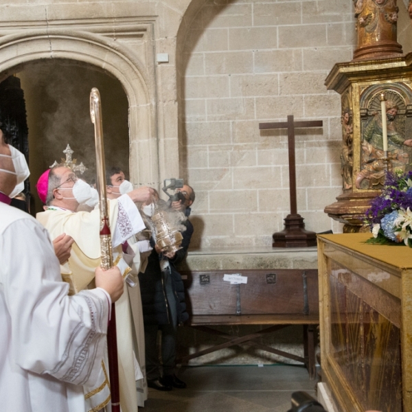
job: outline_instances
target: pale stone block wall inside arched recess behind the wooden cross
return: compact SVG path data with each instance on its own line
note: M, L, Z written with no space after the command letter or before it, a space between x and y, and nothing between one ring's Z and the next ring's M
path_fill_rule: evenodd
M407 17L402 25L410 30ZM282 230L286 130L260 132L259 123L287 115L323 120L297 133L298 212L309 230L341 231L323 213L342 187L340 97L324 80L355 47L350 1L205 1L179 73L181 174L197 195L192 247L269 245Z

